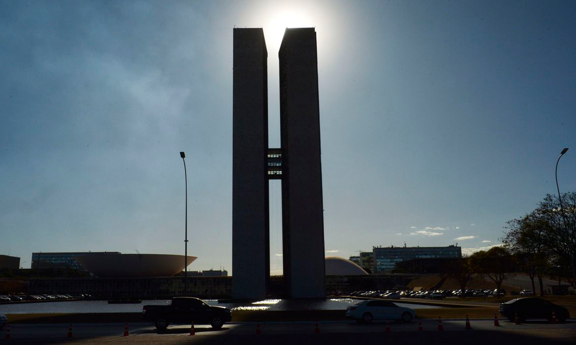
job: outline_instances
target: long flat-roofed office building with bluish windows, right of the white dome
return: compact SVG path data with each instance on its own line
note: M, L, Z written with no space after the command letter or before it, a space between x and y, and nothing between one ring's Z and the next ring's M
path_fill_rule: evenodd
M458 246L447 247L374 247L373 273L389 273L396 268L398 262L425 259L425 258L459 258L462 257L462 248Z

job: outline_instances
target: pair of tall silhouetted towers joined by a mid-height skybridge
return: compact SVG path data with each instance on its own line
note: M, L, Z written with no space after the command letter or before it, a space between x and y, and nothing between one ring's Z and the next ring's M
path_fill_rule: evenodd
M316 31L286 29L278 52L280 148L268 148L268 52L263 30L234 29L233 54L233 298L267 297L270 179L282 181L285 297L324 298Z

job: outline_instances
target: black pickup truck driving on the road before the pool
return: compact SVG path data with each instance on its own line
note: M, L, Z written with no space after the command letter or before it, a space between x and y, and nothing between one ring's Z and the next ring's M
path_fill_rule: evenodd
M145 305L142 318L154 321L158 330L172 324L210 324L219 329L224 322L232 321L232 312L225 307L210 306L194 297L172 298L170 305Z

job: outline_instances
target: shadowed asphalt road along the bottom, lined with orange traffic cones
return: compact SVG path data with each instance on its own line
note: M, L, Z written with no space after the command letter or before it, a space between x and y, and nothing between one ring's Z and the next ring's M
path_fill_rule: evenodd
M444 331L438 331L437 320L422 320L424 331L418 331L418 321L410 324L386 322L357 324L348 321L320 322L315 333L314 322L266 322L256 333L254 322L225 324L218 331L209 325L197 325L190 336L190 326L172 325L157 332L148 323L129 324L129 336L123 337L124 324L73 324L72 335L67 337L68 324L16 324L0 331L0 342L6 344L62 344L62 343L148 343L148 344L351 344L358 342L384 342L394 344L492 344L522 342L524 344L574 344L576 320L563 324L548 321L528 321L515 325L500 320L471 320L472 329L465 329L465 320L442 320Z

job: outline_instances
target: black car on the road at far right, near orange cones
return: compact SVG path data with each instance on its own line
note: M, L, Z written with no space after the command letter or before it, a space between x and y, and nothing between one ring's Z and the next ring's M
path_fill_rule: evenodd
M514 321L516 315L521 322L528 318L546 318L552 321L552 311L559 322L570 318L570 312L563 306L555 305L545 299L537 297L515 298L500 305L500 314L510 321Z

